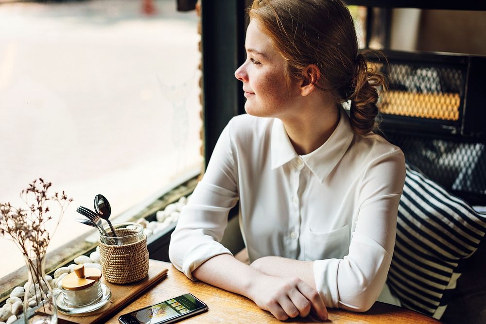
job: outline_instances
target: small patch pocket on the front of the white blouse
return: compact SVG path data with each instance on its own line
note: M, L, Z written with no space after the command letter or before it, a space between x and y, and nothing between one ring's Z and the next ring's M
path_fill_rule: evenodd
M304 254L307 261L341 259L349 253L349 226L322 233L307 229Z

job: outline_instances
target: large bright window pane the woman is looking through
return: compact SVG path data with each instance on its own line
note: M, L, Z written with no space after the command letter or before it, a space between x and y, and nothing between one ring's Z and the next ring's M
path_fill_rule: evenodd
M0 4L0 201L38 177L74 198L48 251L90 230L73 219L96 194L116 217L201 170L199 17L143 2ZM23 259L0 244L1 277Z

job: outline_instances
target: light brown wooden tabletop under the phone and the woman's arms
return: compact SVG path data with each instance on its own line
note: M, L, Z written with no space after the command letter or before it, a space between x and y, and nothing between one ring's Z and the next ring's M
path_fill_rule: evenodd
M175 269L171 263L150 260L150 267L167 268L167 277L153 288L145 291L107 323L116 324L122 314L190 292L208 304L209 310L184 320L182 323L282 323L267 311L261 310L253 301L200 281L191 281ZM328 309L327 323L440 323L417 312L380 302L365 313L353 313L339 309ZM284 323L318 323L316 318L289 319Z

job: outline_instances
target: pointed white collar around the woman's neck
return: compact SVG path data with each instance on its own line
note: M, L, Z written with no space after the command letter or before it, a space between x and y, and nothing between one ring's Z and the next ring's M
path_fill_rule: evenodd
M344 156L354 137L346 111L340 109L340 114L339 123L328 140L313 152L301 156L304 164L307 165L321 183L324 182ZM275 119L272 125L270 145L272 170L298 156L280 119Z

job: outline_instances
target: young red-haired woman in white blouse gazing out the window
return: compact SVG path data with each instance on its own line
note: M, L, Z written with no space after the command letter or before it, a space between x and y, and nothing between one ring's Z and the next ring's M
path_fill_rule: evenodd
M365 311L386 280L405 179L399 148L371 132L382 78L340 0L255 0L249 16L235 72L247 114L221 134L171 261L280 320ZM238 200L249 266L219 243Z

